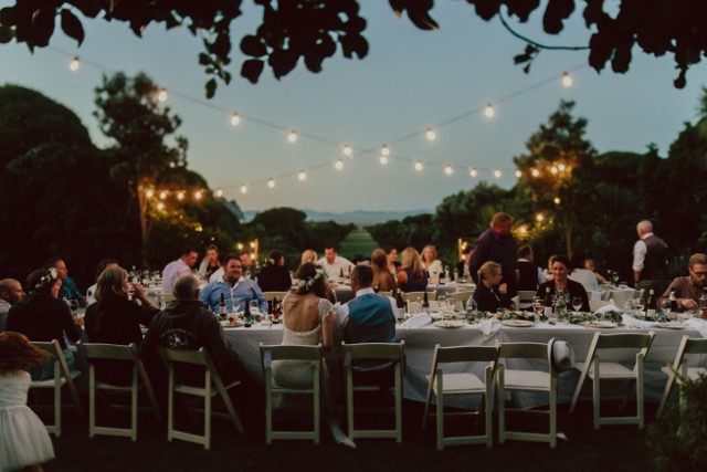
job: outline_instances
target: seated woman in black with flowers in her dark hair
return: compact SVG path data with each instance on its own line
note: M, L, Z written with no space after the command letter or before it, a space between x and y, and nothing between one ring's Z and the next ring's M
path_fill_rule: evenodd
M70 367L74 364L74 354L66 346L64 335L73 342L81 338L81 328L74 324L71 310L57 300L62 286L59 271L38 269L27 277L29 294L12 305L8 313L7 331L22 333L30 340L59 340ZM45 363L42 373L33 373L34 380L51 378L53 361Z

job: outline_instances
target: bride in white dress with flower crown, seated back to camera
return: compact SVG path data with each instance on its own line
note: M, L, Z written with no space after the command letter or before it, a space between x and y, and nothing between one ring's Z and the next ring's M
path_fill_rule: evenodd
M331 350L336 338L336 310L327 300L327 275L324 269L305 263L297 269L297 290L283 298L283 344L316 346L321 343L325 350ZM312 363L306 360L273 361L275 381L289 388L307 388L313 381ZM330 378L324 365L323 390L325 418L338 444L356 448L341 431L336 419Z

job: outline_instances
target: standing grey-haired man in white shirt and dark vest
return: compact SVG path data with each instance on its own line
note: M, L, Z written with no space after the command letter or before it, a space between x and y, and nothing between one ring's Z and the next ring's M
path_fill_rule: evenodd
M667 244L653 234L653 224L643 220L636 225L639 241L633 245L633 280L645 293L662 293L667 286Z

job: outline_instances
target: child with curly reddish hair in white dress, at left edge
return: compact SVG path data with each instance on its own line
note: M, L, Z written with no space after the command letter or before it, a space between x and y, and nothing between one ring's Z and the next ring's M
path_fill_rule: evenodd
M46 354L19 333L0 333L0 472L41 471L54 459L52 440L42 420L27 406L30 369Z

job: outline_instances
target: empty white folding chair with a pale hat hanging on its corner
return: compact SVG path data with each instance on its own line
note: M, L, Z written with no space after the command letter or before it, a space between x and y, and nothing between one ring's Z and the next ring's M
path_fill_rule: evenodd
M551 344L550 339L548 344ZM498 442L506 439L516 441L548 442L550 448L557 445L557 386L559 375L552 367L551 353L548 344L544 343L503 343L498 348L498 365L496 367L496 391L498 395ZM548 364L547 370L514 370L508 369L503 361L507 359L537 359ZM506 430L506 390L544 391L549 396L549 410L524 410L527 413L547 415L549 417L549 432L507 431Z

